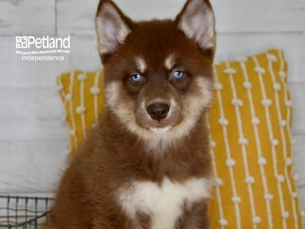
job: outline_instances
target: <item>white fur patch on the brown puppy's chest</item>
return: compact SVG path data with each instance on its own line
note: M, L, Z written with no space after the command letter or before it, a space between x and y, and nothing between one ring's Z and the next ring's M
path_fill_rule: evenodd
M118 201L126 214L136 219L141 212L151 217L152 229L171 229L182 215L184 203L192 204L209 197L210 181L190 179L183 184L163 180L161 186L154 182L133 182L118 193Z

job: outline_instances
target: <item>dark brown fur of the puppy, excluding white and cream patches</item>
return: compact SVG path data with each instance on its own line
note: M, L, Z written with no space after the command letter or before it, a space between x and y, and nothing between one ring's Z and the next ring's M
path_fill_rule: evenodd
M66 170L57 191L50 222L45 227L48 229L150 228L149 214L138 212L135 220L121 209L116 192L123 185L128 186L135 180L161 185L165 177L183 184L190 178L212 177L206 127L209 102L198 106L200 118L195 120L189 133L166 147L157 146L154 149L147 149L147 139L130 131L127 121L121 120L115 109L127 104L126 109L136 113L135 123L145 129L151 123L147 124L141 114L141 102L159 97L169 102L171 98L177 102L179 109L170 120L164 121L165 124L176 126L184 122L192 98L205 96L196 79L212 80L215 47L203 49L177 28L186 7L174 21L136 23L109 0L100 2L98 12L105 3L115 7L132 31L124 44L119 44L113 53L101 53L105 87L114 81L122 82L119 98L117 103L107 104L98 127L86 138ZM180 81L167 80L170 72L163 63L171 53L175 53L176 65L187 74ZM136 69L135 56L141 56L147 66L143 73L145 81L140 84L127 77ZM208 89L211 90L210 85ZM209 228L207 199L201 199L191 206L186 204L184 214L176 221L176 228Z

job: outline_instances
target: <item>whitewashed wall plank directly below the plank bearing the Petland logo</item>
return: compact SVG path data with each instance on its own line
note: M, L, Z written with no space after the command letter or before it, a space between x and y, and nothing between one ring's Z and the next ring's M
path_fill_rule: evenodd
M0 98L1 140L68 139L63 103L55 88L1 89Z

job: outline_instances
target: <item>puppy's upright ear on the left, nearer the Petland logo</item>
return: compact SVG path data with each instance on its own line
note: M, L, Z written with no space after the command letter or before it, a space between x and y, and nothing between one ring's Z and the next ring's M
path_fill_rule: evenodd
M99 52L104 62L131 33L133 21L111 1L101 0L96 15Z

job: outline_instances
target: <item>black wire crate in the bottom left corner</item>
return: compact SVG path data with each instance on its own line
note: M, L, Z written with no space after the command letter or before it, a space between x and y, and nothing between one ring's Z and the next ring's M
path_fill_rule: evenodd
M47 222L53 199L0 195L0 229L38 229Z

